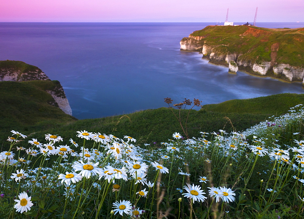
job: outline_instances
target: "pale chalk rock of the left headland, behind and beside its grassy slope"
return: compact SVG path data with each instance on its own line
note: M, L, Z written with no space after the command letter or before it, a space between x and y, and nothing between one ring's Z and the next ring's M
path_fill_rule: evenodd
M34 80L50 80L49 77L36 66L31 66L20 61L0 61L0 81L34 81ZM72 109L65 96L64 90L59 81L53 81L55 86L46 90L54 102L50 105L59 107L64 113L72 115Z

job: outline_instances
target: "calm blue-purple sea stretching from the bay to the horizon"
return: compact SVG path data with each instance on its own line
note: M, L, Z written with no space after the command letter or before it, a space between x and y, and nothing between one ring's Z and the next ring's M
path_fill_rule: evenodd
M78 119L168 106L165 97L210 104L304 93L300 83L228 74L228 68L209 64L197 52L180 51L183 37L214 24L0 23L0 60L26 62L59 80ZM304 23L256 25L299 28Z

